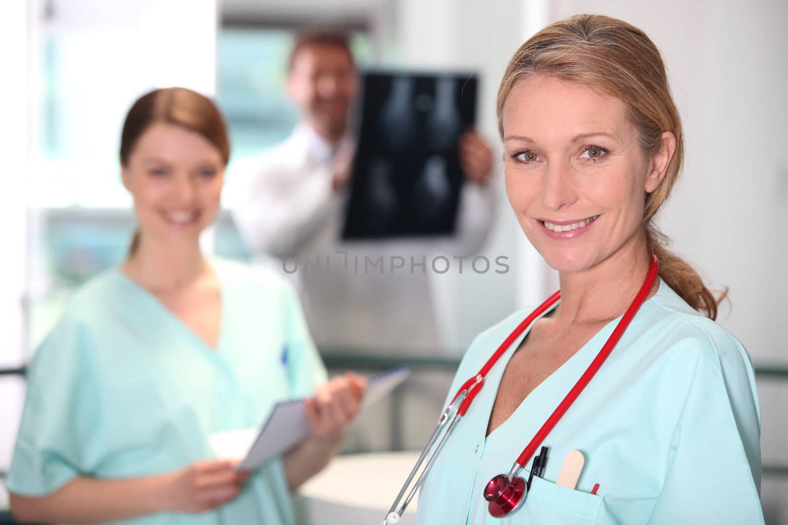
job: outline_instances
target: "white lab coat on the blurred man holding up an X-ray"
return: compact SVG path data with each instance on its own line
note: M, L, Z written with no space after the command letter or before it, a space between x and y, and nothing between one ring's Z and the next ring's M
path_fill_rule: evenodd
M322 351L440 349L430 275L441 275L431 263L443 255L455 271L459 261L452 257L478 252L492 224L492 184L465 184L452 238L344 242L347 196L332 187L334 152L300 124L284 142L247 162L238 173L243 190L234 215L241 235L255 254L280 258L280 269L296 278L307 323ZM383 257L383 263L370 264L366 257L373 263ZM404 268L392 268L392 257L402 257ZM403 261L397 258L394 264ZM436 264L442 272L445 261Z

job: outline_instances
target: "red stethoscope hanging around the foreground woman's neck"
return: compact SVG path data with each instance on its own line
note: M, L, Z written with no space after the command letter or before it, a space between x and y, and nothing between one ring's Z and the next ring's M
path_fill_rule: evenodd
M645 301L646 296L649 294L649 290L654 284L656 279L656 275L660 271L660 261L656 258L655 255L651 256L651 264L649 266L649 273L645 277L645 281L641 289L637 292L632 304L630 304L629 308L626 309L624 315L622 316L619 324L615 326L613 333L608 338L608 341L604 343L602 349L600 349L599 353L597 353L597 357L589 364L589 368L585 370L583 375L578 379L578 382L572 387L572 390L569 391L567 397L563 398L556 408L552 415L548 417L545 424L541 426L539 431L537 431L536 435L533 436L528 446L522 451L522 454L519 455L515 465L511 468L508 474L499 474L496 477L492 478L487 482L484 491L485 500L488 501L488 509L489 513L496 518L500 518L502 516L507 516L511 512L514 512L522 502L526 499L526 494L528 494L528 486L524 479L518 476L519 471L522 469L522 466L526 464L526 461L533 456L533 453L536 452L537 448L541 445L541 443L545 440L547 435L552 431L552 428L556 426L556 423L559 422L561 417L567 412L569 407L574 403L574 400L578 398L582 390L589 384L591 378L599 371L602 363L604 360L608 358L613 347L619 339L623 335L626 327L629 326L632 318L637 313L637 310L640 309L641 305ZM555 305L557 301L561 298L560 290L557 291L555 294L552 294L547 301L543 302L537 309L531 312L530 316L526 317L525 320L520 323L514 331L511 332L509 337L504 340L503 343L498 347L495 353L492 354L492 357L489 358L487 363L481 368L477 375L468 379L463 386L459 387L459 391L455 395L452 402L448 405L448 408L445 410L442 416L440 416L440 420L438 421L437 428L433 432L432 438L429 438L429 442L427 446L424 447L422 451L422 455L418 458L416 465L414 466L411 474L408 475L405 484L400 490L400 494L397 495L396 500L394 501L394 505L389 509L388 516L383 520L382 525L396 525L400 523L400 517L405 512L405 508L407 505L411 503L411 500L416 494L416 491L422 486L424 479L426 478L427 474L429 473L429 469L433 467L435 460L440 453L440 450L443 449L446 441L452 432L454 431L457 423L459 420L465 416L468 408L470 407L470 403L474 401L474 397L477 396L481 387L484 386L485 383L485 376L490 371L490 369L498 362L500 357L506 353L507 349L515 342L522 332L526 330L526 328L530 327L534 320L536 320L541 314L546 312L548 309ZM448 427L447 427L448 425ZM418 472L418 469L421 468L422 463L424 462L425 458L429 451L433 448L435 442L440 437L441 431L443 431L444 427L447 427L446 432L444 433L443 437L440 438L440 442L438 443L437 449L430 455L429 460L427 461L426 467L422 474L419 475L418 479L416 480L416 484L411 489L411 492L405 498L402 505L400 501L402 500L407 487L410 486L411 481L413 480L414 476Z

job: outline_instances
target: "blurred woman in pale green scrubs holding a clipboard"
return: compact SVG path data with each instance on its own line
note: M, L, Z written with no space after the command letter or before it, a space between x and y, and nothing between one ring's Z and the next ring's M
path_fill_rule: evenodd
M201 253L229 160L212 102L181 88L139 98L120 157L139 231L35 354L11 511L36 523L294 523L291 491L336 453L365 383L326 383L282 279ZM310 397L313 427L296 449L253 472L213 457L209 434L259 426L291 397Z

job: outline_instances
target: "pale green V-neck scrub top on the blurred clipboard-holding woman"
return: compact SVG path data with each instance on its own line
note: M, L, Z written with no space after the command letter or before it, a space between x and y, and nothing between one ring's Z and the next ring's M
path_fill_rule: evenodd
M77 475L154 475L214 457L208 435L260 426L276 401L326 379L292 287L212 260L221 328L211 349L119 269L93 279L35 353L8 490L43 496ZM227 505L117 523L294 523L282 461Z

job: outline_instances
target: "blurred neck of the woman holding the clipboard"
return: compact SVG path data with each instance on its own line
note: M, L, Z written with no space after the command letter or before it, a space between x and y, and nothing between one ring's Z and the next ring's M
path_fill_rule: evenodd
M165 293L188 287L210 272L199 242L173 246L144 235L140 235L135 252L121 268L143 287Z

